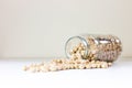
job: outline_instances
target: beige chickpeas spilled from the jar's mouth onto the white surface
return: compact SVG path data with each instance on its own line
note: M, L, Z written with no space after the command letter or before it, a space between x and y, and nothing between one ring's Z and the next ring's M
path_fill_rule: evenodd
M78 48L78 50L77 50ZM75 47L70 54L70 58L57 58L47 63L40 64L31 64L29 66L24 66L23 70L29 70L32 73L46 73L46 72L57 72L57 70L66 70L66 69L91 69L91 68L108 68L112 65L111 62L105 61L95 61L91 58L84 59L82 45L79 44L78 47ZM81 52L81 53L73 53L73 52Z

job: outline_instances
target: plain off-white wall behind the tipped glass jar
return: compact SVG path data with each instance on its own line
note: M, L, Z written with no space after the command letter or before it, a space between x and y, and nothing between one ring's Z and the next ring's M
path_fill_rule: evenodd
M132 56L132 0L0 0L0 57L65 56L82 33L114 34Z

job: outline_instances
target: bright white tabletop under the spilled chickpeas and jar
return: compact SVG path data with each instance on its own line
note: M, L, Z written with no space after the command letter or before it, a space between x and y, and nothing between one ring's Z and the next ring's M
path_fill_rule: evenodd
M107 69L22 70L24 65L44 59L0 58L0 88L132 88L132 58L119 58Z

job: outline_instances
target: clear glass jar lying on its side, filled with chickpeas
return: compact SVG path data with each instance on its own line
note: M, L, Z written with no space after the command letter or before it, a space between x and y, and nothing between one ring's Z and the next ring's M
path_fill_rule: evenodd
M73 36L65 45L68 58L73 55L80 55L84 59L113 62L121 52L121 41L113 35L84 34Z

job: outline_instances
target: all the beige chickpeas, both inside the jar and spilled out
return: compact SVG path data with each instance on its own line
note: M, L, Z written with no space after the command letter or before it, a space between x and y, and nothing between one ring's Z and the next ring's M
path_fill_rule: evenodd
M46 73L66 69L108 68L121 54L121 42L111 35L97 36L96 40L98 40L98 44L92 36L86 37L89 47L86 47L82 43L78 43L68 52L70 55L69 58L57 58L46 63L31 64L24 66L23 70ZM88 51L87 54L86 51Z

